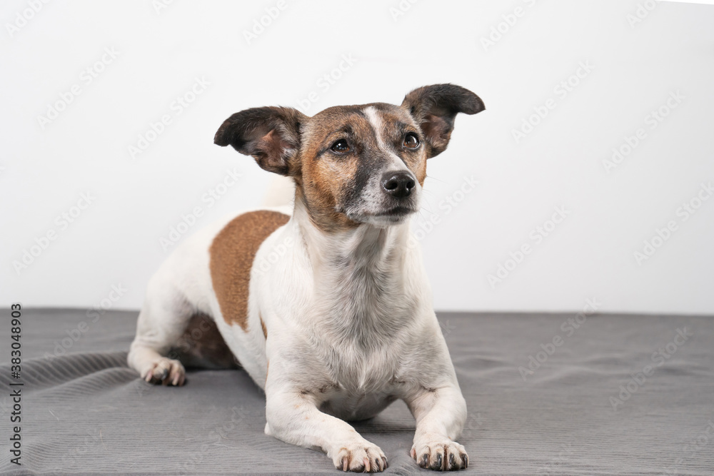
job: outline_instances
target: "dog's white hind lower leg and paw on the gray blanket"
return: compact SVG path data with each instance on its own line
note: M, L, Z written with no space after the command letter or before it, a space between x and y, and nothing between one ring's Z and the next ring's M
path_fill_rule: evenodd
M147 382L183 385L186 370L176 359L164 357L186 329L193 309L176 292L164 288L152 293L149 286L136 324L127 361Z

